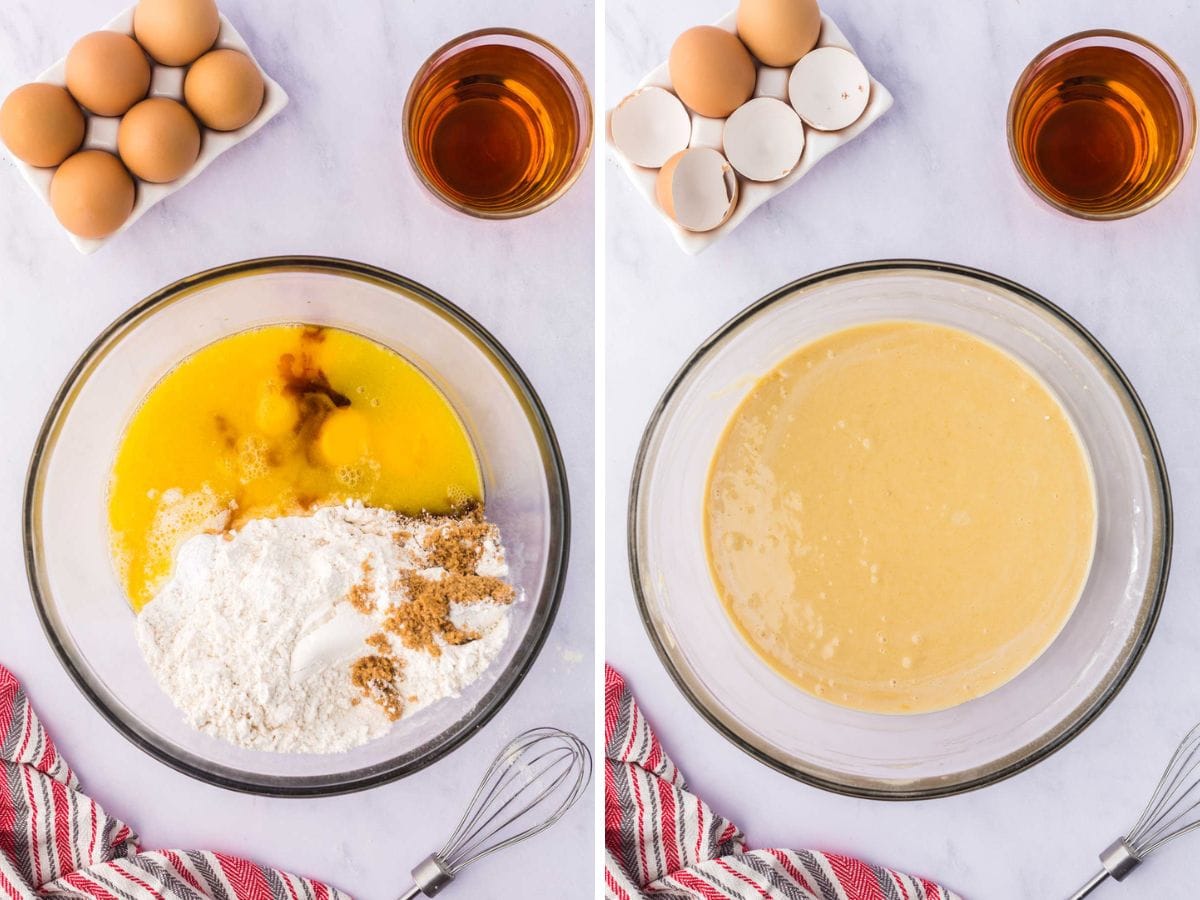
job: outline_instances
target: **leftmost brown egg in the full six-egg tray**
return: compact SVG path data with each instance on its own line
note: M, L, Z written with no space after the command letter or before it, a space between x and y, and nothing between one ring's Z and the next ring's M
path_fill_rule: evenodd
M23 84L0 107L0 140L22 162L58 166L83 143L83 110L54 84Z

